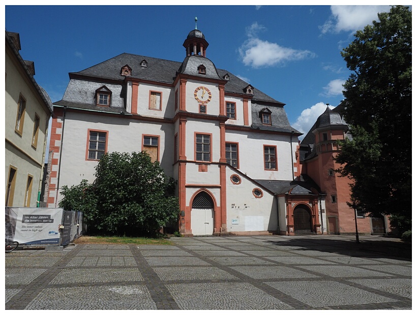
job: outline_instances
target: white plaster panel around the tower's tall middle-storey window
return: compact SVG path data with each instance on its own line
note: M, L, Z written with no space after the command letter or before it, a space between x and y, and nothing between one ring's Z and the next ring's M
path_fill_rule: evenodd
M188 161L195 160L195 135L194 133L212 134L212 162L220 160L220 128L219 124L211 121L201 121L188 118L186 122L186 156Z

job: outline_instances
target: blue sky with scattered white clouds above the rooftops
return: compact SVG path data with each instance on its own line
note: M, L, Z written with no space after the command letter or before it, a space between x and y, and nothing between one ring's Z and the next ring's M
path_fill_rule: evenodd
M206 57L285 103L292 127L304 133L325 103L337 106L343 99L342 83L350 72L340 51L356 30L390 10L327 5L4 8L6 30L20 34L20 54L35 62L35 79L52 102L62 99L69 72L124 52L182 61L182 45L197 16L197 28L209 43Z

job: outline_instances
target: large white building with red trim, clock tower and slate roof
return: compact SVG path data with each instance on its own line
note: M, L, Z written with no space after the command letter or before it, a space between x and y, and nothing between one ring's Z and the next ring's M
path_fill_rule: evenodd
M285 104L216 68L200 30L183 46L182 62L122 53L69 74L53 104L48 207L63 185L93 182L106 152L144 150L177 181L183 235L352 233L347 186L324 179L337 150L315 150L346 125L319 125L300 146Z

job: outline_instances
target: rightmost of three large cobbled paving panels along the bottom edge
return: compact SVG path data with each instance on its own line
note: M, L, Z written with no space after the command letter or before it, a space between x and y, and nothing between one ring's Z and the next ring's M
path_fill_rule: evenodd
M395 299L353 288L336 281L265 282L312 307L395 302Z

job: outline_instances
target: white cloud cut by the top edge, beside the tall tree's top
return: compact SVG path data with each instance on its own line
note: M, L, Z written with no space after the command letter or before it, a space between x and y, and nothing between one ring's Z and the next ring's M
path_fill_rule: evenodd
M378 20L378 13L389 12L390 6L331 6L332 15L320 26L321 33L354 33Z

